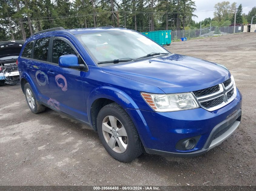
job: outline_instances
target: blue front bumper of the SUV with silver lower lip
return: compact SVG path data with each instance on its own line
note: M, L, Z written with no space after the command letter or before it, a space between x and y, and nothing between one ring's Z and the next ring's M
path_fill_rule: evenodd
M126 109L137 127L145 151L178 157L203 154L221 144L238 127L241 120L242 96L237 89L237 97L228 105L212 112L202 108L177 112L150 112ZM216 137L216 133L229 129ZM176 144L181 139L200 136L195 147L178 150ZM215 139L214 139L215 137Z

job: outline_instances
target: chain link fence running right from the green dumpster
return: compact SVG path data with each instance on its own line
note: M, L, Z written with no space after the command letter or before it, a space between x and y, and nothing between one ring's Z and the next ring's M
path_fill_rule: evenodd
M235 33L243 32L244 26L235 26ZM212 37L225 34L233 34L234 27L208 27L204 29L191 29L191 30L172 30L171 41L180 40L181 38L187 37L198 38L198 37Z

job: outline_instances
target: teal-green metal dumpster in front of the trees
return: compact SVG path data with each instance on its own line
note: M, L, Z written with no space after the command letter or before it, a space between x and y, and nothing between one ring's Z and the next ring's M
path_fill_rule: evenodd
M157 30L142 34L146 35L162 46L171 44L171 30Z

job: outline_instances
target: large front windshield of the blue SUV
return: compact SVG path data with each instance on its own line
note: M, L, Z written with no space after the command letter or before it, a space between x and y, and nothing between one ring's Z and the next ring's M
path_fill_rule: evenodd
M124 58L137 59L150 53L169 53L144 35L130 30L83 33L76 37L96 63Z

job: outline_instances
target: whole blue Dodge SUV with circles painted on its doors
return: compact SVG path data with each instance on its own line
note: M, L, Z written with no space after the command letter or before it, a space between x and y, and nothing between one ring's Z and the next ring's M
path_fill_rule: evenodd
M241 120L242 95L223 65L170 53L124 28L57 27L18 57L28 107L90 125L119 161L189 157L221 144Z

